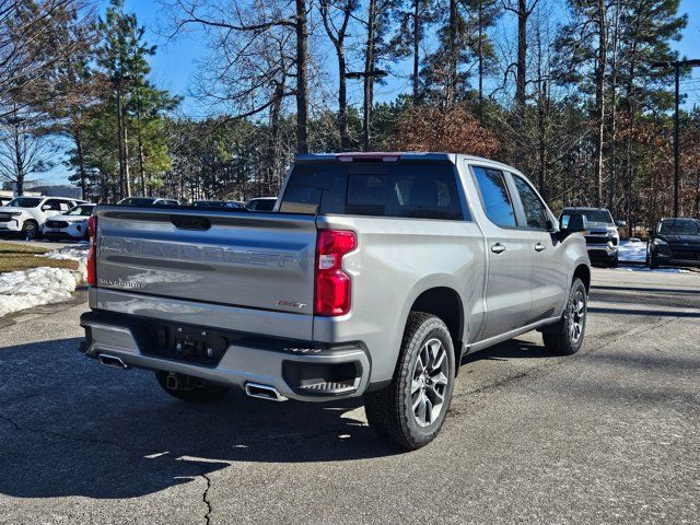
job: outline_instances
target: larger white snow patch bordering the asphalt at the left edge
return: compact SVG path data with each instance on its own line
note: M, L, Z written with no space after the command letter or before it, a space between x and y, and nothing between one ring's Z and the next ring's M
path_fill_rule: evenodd
M70 300L75 276L66 268L32 268L0 273L0 317L20 310Z

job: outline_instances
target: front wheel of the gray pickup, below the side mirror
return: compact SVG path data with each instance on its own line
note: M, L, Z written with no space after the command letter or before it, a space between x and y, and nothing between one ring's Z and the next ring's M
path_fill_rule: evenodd
M581 349L586 330L587 303L586 287L576 278L571 284L561 319L542 331L547 350L559 355L572 355Z

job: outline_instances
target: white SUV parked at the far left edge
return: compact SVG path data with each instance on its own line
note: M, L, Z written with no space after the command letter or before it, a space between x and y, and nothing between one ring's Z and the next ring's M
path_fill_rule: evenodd
M22 233L26 238L33 238L47 219L66 213L82 202L66 197L16 197L0 207L0 233Z

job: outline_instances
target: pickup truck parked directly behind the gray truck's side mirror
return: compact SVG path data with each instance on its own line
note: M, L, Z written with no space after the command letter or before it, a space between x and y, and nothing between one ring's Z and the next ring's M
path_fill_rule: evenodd
M569 215L580 213L586 219L586 248L592 262L602 262L615 267L618 264L620 234L618 226L627 225L625 221L614 221L605 208L564 208L560 221L564 224Z

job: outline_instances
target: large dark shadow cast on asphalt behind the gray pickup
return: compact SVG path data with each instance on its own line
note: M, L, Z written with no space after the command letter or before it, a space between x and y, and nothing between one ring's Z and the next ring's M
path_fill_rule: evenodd
M348 415L359 400L270 402L232 392L188 405L163 393L151 372L84 358L79 341L0 349L0 493L130 498L237 462L398 453Z

